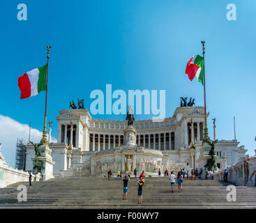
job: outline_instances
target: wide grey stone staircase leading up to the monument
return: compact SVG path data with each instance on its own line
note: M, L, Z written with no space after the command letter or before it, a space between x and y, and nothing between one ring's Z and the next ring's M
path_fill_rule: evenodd
M17 202L18 185L27 185L27 202ZM143 203L137 204L135 178L128 183L123 200L122 178L55 178L16 183L0 189L0 208L256 208L256 187L236 187L236 202L226 199L227 185L218 180L184 180L183 192L168 178L145 180Z

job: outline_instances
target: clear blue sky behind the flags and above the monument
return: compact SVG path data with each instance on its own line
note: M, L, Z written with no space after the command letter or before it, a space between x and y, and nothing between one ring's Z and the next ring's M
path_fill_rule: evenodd
M19 3L27 5L27 21L17 20ZM236 21L226 18L228 3L236 5ZM234 139L236 116L236 137L253 155L255 12L253 0L5 0L0 10L0 114L22 124L31 120L32 128L43 130L45 92L20 100L17 78L46 63L46 45L52 45L47 121L54 122L54 137L58 111L68 109L69 101L77 98L84 98L89 109L91 91L105 91L106 84L112 84L112 91L127 93L166 90L167 117L179 107L181 96L191 96L203 106L202 84L190 82L185 69L194 54L202 54L201 40L205 40L209 133L213 135L211 118L216 117L217 138ZM10 138L17 137L13 130ZM2 150L13 164L15 148L3 145Z

